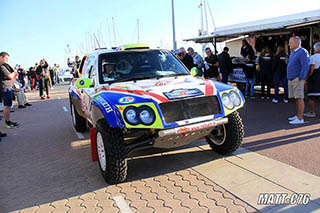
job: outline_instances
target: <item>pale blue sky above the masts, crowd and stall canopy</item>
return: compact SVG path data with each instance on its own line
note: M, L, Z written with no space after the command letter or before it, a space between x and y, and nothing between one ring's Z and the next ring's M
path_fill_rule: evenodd
M200 0L174 2L178 47L195 47L182 39L197 36L201 28L197 7ZM320 8L318 0L306 2L208 0L208 6L219 27ZM58 63L65 67L67 44L73 55L81 56L89 46L88 35L93 33L108 48L115 42L137 43L137 19L140 43L172 48L171 0L0 0L0 5L0 51L10 54L11 65L29 67L44 57L50 65ZM213 25L210 12L207 13L211 32Z

